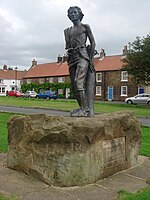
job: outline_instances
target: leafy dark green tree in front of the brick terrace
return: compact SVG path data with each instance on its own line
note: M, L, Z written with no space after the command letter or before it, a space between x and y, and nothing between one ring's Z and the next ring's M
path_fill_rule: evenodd
M131 74L136 83L150 83L150 35L136 37L129 44L123 63L123 70Z

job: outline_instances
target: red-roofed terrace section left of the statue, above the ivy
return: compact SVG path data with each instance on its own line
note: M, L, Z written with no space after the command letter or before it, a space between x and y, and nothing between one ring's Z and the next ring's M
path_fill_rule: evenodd
M58 56L57 62L37 64L37 61L33 60L31 68L23 77L23 83L67 83L70 82L67 57ZM62 90L58 91L62 94ZM65 96L69 98L70 88L66 88Z

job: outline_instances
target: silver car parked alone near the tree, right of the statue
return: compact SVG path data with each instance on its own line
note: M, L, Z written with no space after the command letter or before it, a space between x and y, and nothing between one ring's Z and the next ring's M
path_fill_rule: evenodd
M138 94L134 97L128 97L125 99L127 104L148 104L150 105L150 94Z

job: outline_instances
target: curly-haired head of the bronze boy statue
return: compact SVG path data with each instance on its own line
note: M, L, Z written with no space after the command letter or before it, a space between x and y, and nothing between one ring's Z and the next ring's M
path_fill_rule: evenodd
M74 13L74 15L76 15L76 16L73 16L73 13ZM71 21L73 21L73 20L75 19L75 17L76 17L76 18L78 17L79 20L82 21L83 16L84 16L84 14L82 13L81 8L79 8L78 6L73 6L73 7L70 7L70 8L68 9L68 17L69 17L69 19L70 19Z

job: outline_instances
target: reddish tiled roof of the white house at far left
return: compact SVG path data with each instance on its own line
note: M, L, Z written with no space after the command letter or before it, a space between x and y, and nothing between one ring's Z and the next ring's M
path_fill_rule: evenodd
M17 73L17 74L16 74ZM0 79L16 79L22 80L23 76L27 73L26 71L16 71L16 70L4 70L0 69Z

